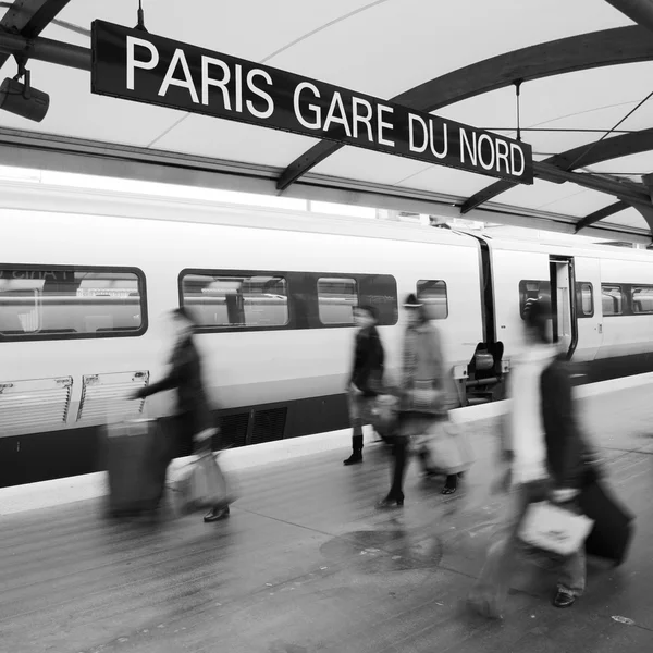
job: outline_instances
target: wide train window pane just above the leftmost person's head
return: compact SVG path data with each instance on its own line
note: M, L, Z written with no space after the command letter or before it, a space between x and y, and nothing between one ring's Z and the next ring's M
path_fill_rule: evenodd
M287 283L283 276L187 273L182 305L201 328L271 328L288 323Z

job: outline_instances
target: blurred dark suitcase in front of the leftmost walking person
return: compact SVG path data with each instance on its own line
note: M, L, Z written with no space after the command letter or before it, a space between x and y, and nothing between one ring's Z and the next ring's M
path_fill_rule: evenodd
M169 463L159 431L157 421L149 419L107 426L104 461L111 516L134 515L158 507Z

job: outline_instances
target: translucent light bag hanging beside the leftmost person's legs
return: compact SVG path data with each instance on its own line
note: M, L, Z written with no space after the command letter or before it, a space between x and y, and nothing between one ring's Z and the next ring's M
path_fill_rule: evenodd
M202 454L187 465L171 489L181 513L229 505L235 498L212 453Z

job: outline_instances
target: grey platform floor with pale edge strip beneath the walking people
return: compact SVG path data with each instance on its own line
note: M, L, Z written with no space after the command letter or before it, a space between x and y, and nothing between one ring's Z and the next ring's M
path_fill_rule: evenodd
M238 475L227 520L104 518L83 501L0 529L0 650L8 653L612 653L653 651L653 387L582 402L615 493L637 514L628 560L589 566L586 595L551 605L555 564L521 552L505 618L465 599L505 502L489 491L496 420L466 426L460 491L420 479L379 512L390 459L340 452Z

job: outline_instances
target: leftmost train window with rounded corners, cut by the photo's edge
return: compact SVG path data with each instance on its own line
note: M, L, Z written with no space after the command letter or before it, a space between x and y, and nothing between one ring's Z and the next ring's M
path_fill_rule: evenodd
M146 328L143 274L106 268L0 269L5 338L135 335Z

